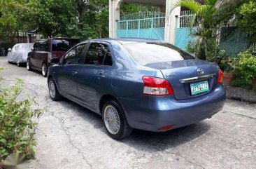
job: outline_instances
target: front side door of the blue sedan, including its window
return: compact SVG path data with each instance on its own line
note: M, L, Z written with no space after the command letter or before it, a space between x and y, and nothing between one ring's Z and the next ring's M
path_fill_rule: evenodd
M74 100L80 98L77 87L77 70L79 65L84 62L83 52L86 46L87 43L83 43L69 50L64 55L62 66L57 72L57 83L60 92Z

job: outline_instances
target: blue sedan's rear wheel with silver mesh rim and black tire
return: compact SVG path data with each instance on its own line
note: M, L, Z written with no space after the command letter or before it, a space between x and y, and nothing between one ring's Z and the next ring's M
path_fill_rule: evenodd
M127 123L122 107L120 107L120 104L115 100L109 100L104 104L102 120L108 135L113 139L120 140L131 135L132 128L130 128ZM110 120L112 121L112 125ZM113 126L113 124L115 126Z

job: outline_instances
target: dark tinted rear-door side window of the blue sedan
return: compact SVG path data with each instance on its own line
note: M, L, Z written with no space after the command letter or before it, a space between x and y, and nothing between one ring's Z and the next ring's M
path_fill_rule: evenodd
M85 56L85 64L112 65L111 52L108 45L102 43L91 43Z

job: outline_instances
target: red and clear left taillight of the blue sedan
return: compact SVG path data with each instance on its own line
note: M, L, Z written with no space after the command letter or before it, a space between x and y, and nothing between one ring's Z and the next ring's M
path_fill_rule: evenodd
M169 81L162 78L143 76L145 95L173 95L173 88Z

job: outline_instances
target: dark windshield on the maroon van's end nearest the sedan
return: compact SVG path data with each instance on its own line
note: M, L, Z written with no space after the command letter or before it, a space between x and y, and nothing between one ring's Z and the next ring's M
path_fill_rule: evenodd
M52 51L67 51L79 42L79 39L53 39Z

